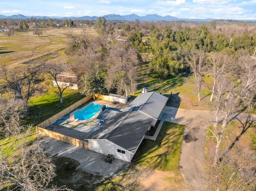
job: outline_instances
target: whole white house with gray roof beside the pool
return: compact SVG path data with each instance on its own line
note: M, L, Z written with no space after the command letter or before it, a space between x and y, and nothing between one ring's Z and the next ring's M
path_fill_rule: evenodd
M105 108L97 117L99 128L85 138L90 150L130 162L167 100L159 93L148 92L137 96L126 108Z

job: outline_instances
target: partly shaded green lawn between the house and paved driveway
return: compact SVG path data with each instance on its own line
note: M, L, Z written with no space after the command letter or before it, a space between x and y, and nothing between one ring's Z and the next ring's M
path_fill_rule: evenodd
M156 141L146 140L134 161L153 169L176 171L179 168L184 125L164 122Z

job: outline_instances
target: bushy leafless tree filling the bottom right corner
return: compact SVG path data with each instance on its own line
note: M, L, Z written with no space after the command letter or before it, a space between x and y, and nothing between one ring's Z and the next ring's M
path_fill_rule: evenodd
M209 156L206 162L209 190L254 190L256 187L256 156L253 150L236 144L223 160L215 164Z

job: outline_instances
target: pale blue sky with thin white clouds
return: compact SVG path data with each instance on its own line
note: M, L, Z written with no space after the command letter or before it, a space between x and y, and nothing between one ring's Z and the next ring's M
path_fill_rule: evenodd
M104 16L158 14L178 18L256 19L256 0L0 0L11 16Z

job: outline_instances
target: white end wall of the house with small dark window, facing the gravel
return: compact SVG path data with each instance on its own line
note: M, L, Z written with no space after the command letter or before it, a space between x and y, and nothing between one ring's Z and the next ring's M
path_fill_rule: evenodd
M120 160L130 162L132 160L132 157L134 156L133 153L129 152L128 150L125 150L124 148L106 139L96 139L96 140L88 139L88 142L89 142L90 150L104 154L104 155L112 154L114 155L115 158ZM117 152L118 149L125 151L125 154Z

